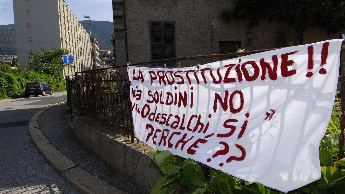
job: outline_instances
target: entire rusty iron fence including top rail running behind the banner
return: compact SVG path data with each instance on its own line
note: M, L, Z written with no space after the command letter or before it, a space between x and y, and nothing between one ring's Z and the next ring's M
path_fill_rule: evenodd
M146 61L131 64L131 66L145 65L157 67L158 63L164 64L165 61L174 61L175 67L188 67L199 64L201 60L203 61L201 64L204 64L205 59L209 60L209 62L225 60L239 54L248 55L274 49L279 48ZM135 137L130 108L129 78L126 70L119 70L119 68L125 69L126 67L127 65L121 65L94 69L77 72L75 76L67 76L67 103L71 108L73 105L78 107L79 114L94 124L106 127L115 134L127 136L133 143ZM157 68L163 67L158 66Z

